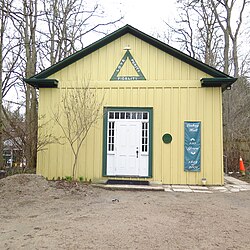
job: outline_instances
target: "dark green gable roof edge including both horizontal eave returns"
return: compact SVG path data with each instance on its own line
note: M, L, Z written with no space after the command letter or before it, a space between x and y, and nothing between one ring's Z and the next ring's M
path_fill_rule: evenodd
M216 82L217 84L213 85L213 82L211 82L211 80L206 80L206 79L211 79L211 78L203 78L202 81L202 86L204 87L212 87L211 85L213 85L214 87L218 87L217 85L220 86L224 86L228 87L231 84L233 84L233 82L235 82L237 79L230 77L229 75L205 64L202 63L201 61L198 61L197 59L192 58L191 56L186 55L185 53L159 41L158 39L149 36L145 33L143 33L142 31L130 26L130 25L125 25L122 28L114 31L113 33L105 36L104 38L92 43L91 45L83 48L82 50L72 54L71 56L65 58L64 60L52 65L51 67L41 71L40 73L34 75L33 77L29 78L29 79L25 79L25 82L27 82L28 84L34 86L34 87L57 87L57 81L55 79L45 79L47 77L49 77L50 75L56 73L57 71L67 67L68 65L80 60L81 58L91 54L92 52L100 49L101 47L113 42L114 40L116 40L117 38L125 35L125 34L132 34L135 37L143 40L144 42L174 56L175 58L178 58L179 60L192 65L195 68L200 69L201 71L215 77L217 79L217 81L214 81L214 83ZM219 84L219 80L223 79L223 83ZM39 79L39 80L38 80ZM214 79L214 78L213 78ZM226 80L227 79L227 80Z

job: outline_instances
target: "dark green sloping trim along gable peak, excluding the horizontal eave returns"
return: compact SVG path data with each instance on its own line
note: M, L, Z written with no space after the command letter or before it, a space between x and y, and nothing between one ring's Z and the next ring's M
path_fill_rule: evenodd
M54 74L55 72L67 67L68 65L80 60L81 58L91 54L92 52L102 48L103 46L113 42L114 40L116 40L117 38L125 35L125 34L132 34L135 37L143 40L144 42L180 59L183 62L186 62L187 64L190 64L192 66L194 66L195 68L200 69L201 71L213 76L213 77L221 77L221 78L225 78L226 82L224 82L227 86L230 86L231 83L231 79L232 77L230 77L229 75L205 64L202 63L200 61L198 61L195 58L190 57L189 55L184 54L183 52L157 40L156 38L149 36L145 33L143 33L142 31L130 26L130 25L125 25L122 28L114 31L113 33L105 36L104 38L98 40L97 42L92 43L91 45L87 46L86 48L83 48L82 50L74 53L73 55L65 58L64 60L52 65L51 67L43 70L42 72L34 75L32 78L36 78L36 79L42 79L42 78L47 78L50 75ZM233 78L235 79L235 78ZM25 80L26 81L26 80ZM26 81L27 82L27 81ZM28 82L27 82L28 83ZM38 87L40 83L38 83Z

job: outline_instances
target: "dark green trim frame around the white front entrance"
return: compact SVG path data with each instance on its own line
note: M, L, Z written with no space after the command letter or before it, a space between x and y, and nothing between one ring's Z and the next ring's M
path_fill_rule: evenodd
M153 108L150 107L104 107L103 109L103 155L102 155L102 175L104 177L117 177L107 175L107 130L108 130L108 112L109 111L146 111L149 113L149 159L148 176L134 176L135 178L152 178L153 163ZM121 176L119 176L121 177ZM128 176L124 176L128 177ZM129 176L133 177L133 176ZM121 177L122 178L122 177Z

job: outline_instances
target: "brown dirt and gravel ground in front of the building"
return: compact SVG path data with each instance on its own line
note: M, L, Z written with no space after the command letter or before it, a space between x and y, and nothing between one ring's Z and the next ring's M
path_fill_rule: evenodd
M250 249L250 192L112 191L0 180L0 249Z

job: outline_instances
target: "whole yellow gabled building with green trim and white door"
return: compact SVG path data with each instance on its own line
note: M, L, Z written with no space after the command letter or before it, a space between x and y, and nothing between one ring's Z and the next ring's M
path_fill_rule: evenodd
M52 114L83 79L104 98L103 116L81 146L76 177L223 184L222 91L235 78L126 25L25 80L39 88L39 116L55 135ZM70 176L72 164L68 143L49 144L37 173Z

